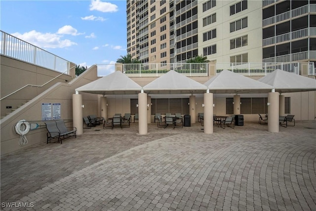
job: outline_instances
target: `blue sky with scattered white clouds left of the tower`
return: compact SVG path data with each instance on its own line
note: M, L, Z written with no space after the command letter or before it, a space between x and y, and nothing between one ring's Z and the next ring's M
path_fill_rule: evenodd
M127 54L125 0L0 0L0 29L80 66Z

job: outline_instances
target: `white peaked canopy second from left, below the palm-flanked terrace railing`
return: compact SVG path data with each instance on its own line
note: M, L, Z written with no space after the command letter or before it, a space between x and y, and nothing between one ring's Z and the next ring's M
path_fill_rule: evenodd
M192 94L206 93L207 87L174 70L160 76L143 87L149 94Z

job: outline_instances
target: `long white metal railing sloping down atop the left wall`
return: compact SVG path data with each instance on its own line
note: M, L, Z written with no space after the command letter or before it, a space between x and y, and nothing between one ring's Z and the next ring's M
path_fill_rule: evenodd
M3 31L0 33L1 54L69 75L69 61Z

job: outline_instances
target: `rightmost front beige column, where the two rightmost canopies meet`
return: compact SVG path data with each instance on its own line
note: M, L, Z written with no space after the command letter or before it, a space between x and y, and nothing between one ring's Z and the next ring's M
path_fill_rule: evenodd
M278 121L278 92L269 92L268 93L268 131L269 132L278 132L279 121Z

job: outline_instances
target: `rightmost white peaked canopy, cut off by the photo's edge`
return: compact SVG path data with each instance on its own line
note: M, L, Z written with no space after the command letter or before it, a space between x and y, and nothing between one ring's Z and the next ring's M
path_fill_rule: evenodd
M275 70L258 81L274 86L277 92L315 91L316 80L283 70Z

